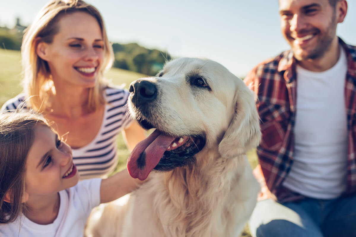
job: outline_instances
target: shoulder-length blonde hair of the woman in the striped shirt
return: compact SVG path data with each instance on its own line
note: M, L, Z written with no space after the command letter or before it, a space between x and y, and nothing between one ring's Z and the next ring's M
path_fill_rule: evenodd
M106 34L103 17L94 6L82 0L52 0L38 12L35 20L26 29L21 46L23 89L28 98L27 103L36 112L43 112L50 105L49 95L54 91L48 63L37 55L37 45L40 42L52 43L53 37L59 31L59 18L78 11L95 17L103 36L104 61L100 67L98 82L89 89L87 106L89 111L95 111L98 106L104 104L103 90L107 82L103 74L105 70L110 69L114 53Z

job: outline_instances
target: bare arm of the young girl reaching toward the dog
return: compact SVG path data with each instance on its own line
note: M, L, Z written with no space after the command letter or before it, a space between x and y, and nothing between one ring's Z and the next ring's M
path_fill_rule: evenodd
M146 179L147 180L147 179ZM127 169L103 179L100 186L100 203L114 201L139 187L145 181L134 179Z

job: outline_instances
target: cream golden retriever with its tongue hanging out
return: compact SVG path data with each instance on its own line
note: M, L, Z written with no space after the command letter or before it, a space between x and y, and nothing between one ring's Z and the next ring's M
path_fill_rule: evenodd
M127 160L130 175L148 181L98 208L87 236L240 236L259 190L246 157L261 136L252 91L197 58L169 61L129 90L132 117L156 128Z

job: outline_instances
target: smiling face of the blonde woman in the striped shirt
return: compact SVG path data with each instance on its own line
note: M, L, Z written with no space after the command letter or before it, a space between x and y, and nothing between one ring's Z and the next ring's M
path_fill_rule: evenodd
M60 17L57 26L53 42L37 47L38 55L48 62L54 85L93 87L105 52L98 21L85 12L74 12Z

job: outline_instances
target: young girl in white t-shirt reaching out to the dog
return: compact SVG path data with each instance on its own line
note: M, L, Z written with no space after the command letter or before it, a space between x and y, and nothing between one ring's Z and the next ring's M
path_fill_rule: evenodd
M45 119L0 114L0 236L83 236L90 211L132 191L127 170L79 181L72 150Z

